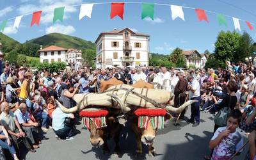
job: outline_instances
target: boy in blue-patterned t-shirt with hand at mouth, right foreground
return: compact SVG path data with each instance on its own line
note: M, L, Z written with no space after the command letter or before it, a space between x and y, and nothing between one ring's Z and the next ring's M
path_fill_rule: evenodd
M228 116L227 126L220 127L214 132L214 136L209 142L209 148L214 149L212 160L230 159L243 146L243 138L237 131L241 118L241 112L238 109L234 109Z

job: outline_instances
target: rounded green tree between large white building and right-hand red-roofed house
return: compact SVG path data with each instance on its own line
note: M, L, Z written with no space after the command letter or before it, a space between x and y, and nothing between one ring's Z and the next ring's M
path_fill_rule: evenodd
M170 54L169 60L176 65L176 67L186 67L186 59L182 54L182 49L175 48Z

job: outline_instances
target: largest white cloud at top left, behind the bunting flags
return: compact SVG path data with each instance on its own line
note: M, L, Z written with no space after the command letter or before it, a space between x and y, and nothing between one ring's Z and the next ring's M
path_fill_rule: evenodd
M81 3L83 3L82 0L72 0L72 1L70 1L70 0L56 0L56 1L40 0L39 5L24 4L19 7L18 11L19 11L20 15L24 15L26 13L29 13L31 10L33 10L33 11L42 10L42 17L41 17L40 23L47 24L47 23L52 22L54 8L66 6L63 19L69 19L71 17L70 13L77 12L77 10L79 9L77 7L70 6L70 5L81 4Z

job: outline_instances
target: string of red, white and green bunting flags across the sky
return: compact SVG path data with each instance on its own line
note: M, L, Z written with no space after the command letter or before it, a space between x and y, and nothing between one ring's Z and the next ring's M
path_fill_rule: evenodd
M246 26L248 26L248 28L250 30L253 30L253 25L255 25L255 23L252 23L252 22L249 22L249 21L243 20L243 19L237 19L230 15L224 15L224 14L212 12L209 10L191 8L188 6L177 6L177 5L172 5L172 4L141 3L141 2L125 2L125 3L124 2L115 2L115 3L105 2L105 3L74 4L74 5L70 5L70 6L81 6L80 13L79 13L79 20L81 20L81 19L83 19L84 16L87 16L89 18L92 17L92 10L93 10L94 4L111 4L111 13L110 13L111 19L113 19L116 16L120 17L121 19L124 19L124 5L125 4L141 4L141 19L145 19L146 17L149 17L150 19L154 20L154 6L159 5L159 6L170 6L170 10L172 13L172 20L175 20L177 18L185 20L183 8L187 8L187 9L195 10L199 21L205 20L206 22L209 22L205 12L215 14L217 16L218 24L220 26L222 26L222 25L228 26L227 20L225 19L225 17L232 18L232 20L234 22L234 28L239 31L241 31L240 21L245 22ZM54 15L53 15L52 22L55 23L58 20L63 22L64 10L65 10L65 8L70 7L70 6L62 6L62 7L54 8L54 13L53 13ZM50 11L50 10L47 10L47 11ZM32 27L34 24L39 26L42 11L28 13L26 15L31 15L31 14L32 14L32 19L31 19L30 26ZM20 25L20 21L23 19L24 16L25 15L19 15L17 17L13 17L11 19L6 19L6 20L0 21L1 22L0 31L3 31L4 28L6 27L8 20L12 20L12 19L15 19L13 22L13 28L18 29L19 25Z

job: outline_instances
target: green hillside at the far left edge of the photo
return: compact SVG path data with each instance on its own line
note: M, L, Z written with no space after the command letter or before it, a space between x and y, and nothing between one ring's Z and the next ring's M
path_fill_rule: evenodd
M10 36L6 36L3 33L0 33L0 42L3 46L3 52L10 52L16 45L20 44L16 40L13 40L13 38L10 38Z

